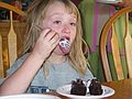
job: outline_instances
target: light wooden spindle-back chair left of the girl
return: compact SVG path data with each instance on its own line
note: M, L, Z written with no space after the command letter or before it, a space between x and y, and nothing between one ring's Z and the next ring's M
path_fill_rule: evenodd
M20 40L23 38L25 26L25 23L13 20L12 12L23 18L26 16L26 13L4 2L0 2L0 8L10 11L10 21L0 21L0 78L4 78L7 69L21 53L22 41Z

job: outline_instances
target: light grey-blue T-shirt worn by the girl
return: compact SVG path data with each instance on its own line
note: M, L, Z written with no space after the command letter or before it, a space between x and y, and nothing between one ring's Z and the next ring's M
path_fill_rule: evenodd
M13 74L21 66L21 64L25 61L26 57L28 54L20 57L8 70L8 75ZM50 72L50 75L45 78L43 68L41 68L38 73L35 75L34 79L32 80L31 86L43 86L55 90L59 86L69 84L72 82L72 80L75 80L76 78L80 78L77 70L75 70L70 66L68 59L62 64L48 64L48 66L46 66L46 69ZM81 79L87 80L90 78L94 78L94 76L91 72L87 68L87 73L84 77L81 77ZM31 91L29 90L29 92Z

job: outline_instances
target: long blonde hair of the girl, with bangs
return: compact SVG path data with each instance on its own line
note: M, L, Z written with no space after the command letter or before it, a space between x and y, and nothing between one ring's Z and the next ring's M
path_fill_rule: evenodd
M54 3L55 1L58 1L61 3L64 3L67 11L69 13L74 13L77 16L77 35L75 37L75 41L73 42L70 52L68 54L69 61L72 66L80 73L80 75L85 75L86 67L88 65L87 59L84 56L82 53L82 29L81 29L81 20L80 14L77 9L77 7L70 1L70 0L33 0L31 6L28 9L28 26L26 26L26 40L24 41L24 47L23 53L26 53L29 50L32 50L34 46L38 35L40 31L34 28L34 25L41 25L42 20L44 19L46 9L48 6Z

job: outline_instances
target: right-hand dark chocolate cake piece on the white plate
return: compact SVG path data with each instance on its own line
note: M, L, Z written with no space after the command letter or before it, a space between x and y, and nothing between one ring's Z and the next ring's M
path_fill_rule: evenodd
M91 79L90 86L89 86L89 94L90 95L102 95L103 90L101 88L101 84L97 81L97 79Z

